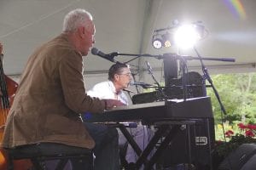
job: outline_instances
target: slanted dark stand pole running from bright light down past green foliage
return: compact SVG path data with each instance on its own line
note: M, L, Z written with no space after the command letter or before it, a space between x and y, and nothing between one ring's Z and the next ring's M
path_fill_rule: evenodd
M212 78L210 77L210 75L208 73L207 67L204 65L204 63L202 61L203 58L201 57L201 55L199 54L199 52L197 51L197 49L195 47L194 47L194 50L195 50L195 53L197 54L197 56L198 56L198 58L200 59L200 62L201 62L201 69L202 69L202 72L203 72L203 86L204 87L206 86L206 80L210 83L210 85L213 89L213 92L214 92L216 98L218 99L218 104L220 105L221 111L224 112L224 115L227 115L227 112L224 108L224 105L221 102L220 97L218 95L218 91L213 85ZM207 95L206 91L205 91L205 95Z

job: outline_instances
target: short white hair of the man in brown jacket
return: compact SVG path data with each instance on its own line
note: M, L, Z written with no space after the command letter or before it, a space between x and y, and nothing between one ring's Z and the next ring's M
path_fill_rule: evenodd
M66 14L63 21L63 32L73 32L79 26L85 26L88 29L89 21L92 20L91 14L83 8L76 8Z

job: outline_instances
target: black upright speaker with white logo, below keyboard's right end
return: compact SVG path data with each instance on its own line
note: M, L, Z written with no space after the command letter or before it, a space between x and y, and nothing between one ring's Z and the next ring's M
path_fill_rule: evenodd
M215 142L213 118L202 118L183 127L160 157L160 164L172 167L190 161L196 169L210 169Z

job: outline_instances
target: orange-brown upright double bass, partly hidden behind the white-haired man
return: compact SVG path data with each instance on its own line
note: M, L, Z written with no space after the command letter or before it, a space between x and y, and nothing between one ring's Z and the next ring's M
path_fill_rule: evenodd
M7 77L3 72L3 45L0 43L0 143L3 141L3 131L6 118L15 98L15 92L18 88L18 83ZM0 170L7 169L7 158L3 149L0 149ZM15 169L26 170L31 167L31 162L15 161Z

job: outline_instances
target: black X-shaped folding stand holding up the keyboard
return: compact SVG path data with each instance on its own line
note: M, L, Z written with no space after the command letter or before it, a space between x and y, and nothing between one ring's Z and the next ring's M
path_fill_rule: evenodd
M172 139L175 138L176 134L181 131L181 127L183 125L194 125L195 121L160 121L160 122L154 122L154 125L158 126L158 130L154 133L153 138L149 141L147 147L145 150L141 150L135 140L132 138L131 134L128 132L128 130L125 128L124 125L118 123L118 127L120 131L124 134L125 138L131 144L131 147L135 152L137 153L137 156L139 156L137 162L135 163L129 163L127 169L129 170L136 170L142 167L144 164L145 170L150 170L153 168L156 161L158 161L159 157L163 153L164 150L166 150L168 144L172 142ZM189 130L189 126L188 129ZM189 132L188 132L188 135ZM154 155L151 157L151 159L148 161L148 156L151 153L152 150L154 150L154 147L156 144L160 141L160 139L164 138L163 142L160 143L160 146L157 148L157 150L154 152ZM190 139L190 136L188 137ZM189 146L189 163L191 162L191 151Z

